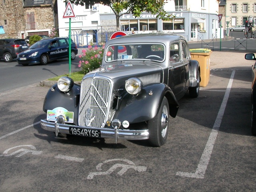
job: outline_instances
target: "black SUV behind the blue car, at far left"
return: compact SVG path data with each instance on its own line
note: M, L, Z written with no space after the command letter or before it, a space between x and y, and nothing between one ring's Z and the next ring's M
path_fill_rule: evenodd
M0 39L0 59L5 62L12 62L12 59L26 49L28 44L24 39Z

